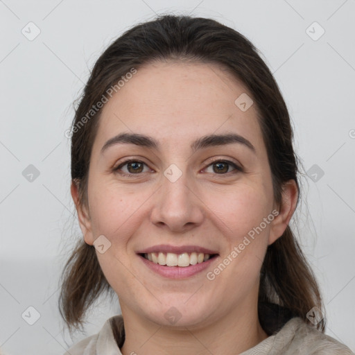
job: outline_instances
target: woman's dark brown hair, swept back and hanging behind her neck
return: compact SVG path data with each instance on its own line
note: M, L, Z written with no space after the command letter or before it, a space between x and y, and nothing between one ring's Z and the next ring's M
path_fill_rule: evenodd
M92 145L101 110L83 123L93 105L107 89L132 68L155 60L193 60L218 64L248 88L257 106L258 120L272 173L275 202L282 202L282 189L297 178L299 161L293 150L293 130L279 87L254 45L234 29L213 19L162 15L139 24L115 40L98 58L76 109L71 137L71 179L78 184L80 203L87 205L87 175ZM76 129L74 129L76 128ZM60 313L69 327L83 325L85 311L103 291L112 291L98 264L94 246L80 239L64 266ZM260 304L272 302L291 315L307 320L313 306L322 311L318 284L288 226L268 246L261 267ZM318 323L324 331L325 320Z

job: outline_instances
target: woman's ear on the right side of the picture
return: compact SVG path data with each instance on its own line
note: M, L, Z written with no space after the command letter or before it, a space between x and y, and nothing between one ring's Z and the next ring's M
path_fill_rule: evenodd
M295 180L289 180L282 189L282 203L279 214L272 220L268 245L274 243L285 232L296 209L298 189Z

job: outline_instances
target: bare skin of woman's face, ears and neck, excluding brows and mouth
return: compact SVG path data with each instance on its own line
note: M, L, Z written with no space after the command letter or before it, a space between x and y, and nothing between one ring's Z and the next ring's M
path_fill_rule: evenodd
M103 273L119 296L125 322L124 355L239 354L267 338L257 317L259 272L266 248L286 229L295 210L297 187L285 185L281 209L275 204L257 107L234 104L248 90L214 64L155 62L137 71L103 107L89 167L88 206L72 184L80 228L92 245L104 235L111 247L96 251ZM159 140L159 150L105 142L121 132ZM237 133L255 147L213 146L191 152L204 135ZM124 158L144 162L139 174ZM223 166L213 159L243 166ZM164 171L175 164L175 182ZM229 168L228 168L229 167ZM227 170L228 168L228 170ZM227 171L227 172L225 172ZM152 245L200 245L219 254L214 270L243 238L268 217L270 222L213 281L206 271L167 279L149 270L136 252ZM208 271L208 270L207 270ZM171 324L171 307L181 314ZM164 345L164 346L163 346Z

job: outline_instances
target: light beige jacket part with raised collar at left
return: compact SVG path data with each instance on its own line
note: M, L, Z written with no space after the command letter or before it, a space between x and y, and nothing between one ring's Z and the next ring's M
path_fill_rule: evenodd
M123 324L122 315L115 315L106 320L98 334L89 336L88 338L81 340L79 343L76 343L76 345L70 347L64 355L121 355L112 331L112 323Z

